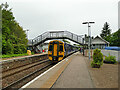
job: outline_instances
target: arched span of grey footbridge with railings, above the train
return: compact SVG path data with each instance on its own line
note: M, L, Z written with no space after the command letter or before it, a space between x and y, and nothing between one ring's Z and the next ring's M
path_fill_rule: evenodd
M52 39L69 39L73 42L76 42L80 45L83 45L82 37L78 36L76 34L73 34L69 31L48 31L48 32L45 32L45 33L35 37L32 40L32 45L37 46L37 45L40 45L41 43L43 43L47 40L52 40Z

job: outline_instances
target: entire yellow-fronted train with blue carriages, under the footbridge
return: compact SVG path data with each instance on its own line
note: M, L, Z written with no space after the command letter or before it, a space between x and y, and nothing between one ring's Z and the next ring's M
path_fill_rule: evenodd
M53 40L48 44L48 58L52 62L59 62L77 51L77 46L70 45L60 40Z

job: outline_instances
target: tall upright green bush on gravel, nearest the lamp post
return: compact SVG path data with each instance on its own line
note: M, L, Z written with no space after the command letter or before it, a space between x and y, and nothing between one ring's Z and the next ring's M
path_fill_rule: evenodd
M95 49L93 52L93 61L91 62L92 67L99 68L103 64L103 54L101 50Z

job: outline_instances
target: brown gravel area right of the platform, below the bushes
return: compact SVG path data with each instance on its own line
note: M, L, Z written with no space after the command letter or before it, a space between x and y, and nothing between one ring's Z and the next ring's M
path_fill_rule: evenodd
M91 61L85 61L95 88L118 88L118 64L105 64L101 68L92 68Z

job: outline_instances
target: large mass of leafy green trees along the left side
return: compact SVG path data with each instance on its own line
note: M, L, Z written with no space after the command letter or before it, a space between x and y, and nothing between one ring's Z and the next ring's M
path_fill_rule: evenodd
M12 9L7 3L2 9L2 54L22 54L26 52L27 37L23 28L17 23Z

